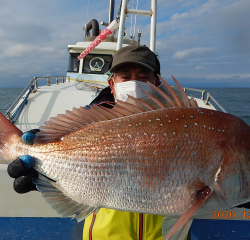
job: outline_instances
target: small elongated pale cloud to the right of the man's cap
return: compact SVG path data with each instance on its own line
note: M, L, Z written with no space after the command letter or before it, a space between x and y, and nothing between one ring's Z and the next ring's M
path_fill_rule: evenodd
M178 51L173 55L173 59L175 60L183 60L187 58L195 58L195 57L202 57L208 54L211 54L215 52L213 48L193 48L193 49L187 49L183 51Z

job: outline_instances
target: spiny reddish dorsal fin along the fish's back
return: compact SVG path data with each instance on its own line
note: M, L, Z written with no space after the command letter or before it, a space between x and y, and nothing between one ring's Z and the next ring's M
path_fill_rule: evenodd
M145 92L147 98L137 99L128 96L127 102L118 100L116 105L110 103L114 105L113 108L104 108L98 105L94 105L90 109L84 107L73 108L72 111L66 111L65 114L59 114L56 117L50 118L49 121L45 122L45 126L40 127L41 131L36 134L37 137L34 142L49 143L59 141L63 136L95 122L112 120L167 107L198 106L193 98L188 99L175 78L177 91L173 90L163 78L160 77L160 79L164 87L159 88L148 83L150 91L149 93Z

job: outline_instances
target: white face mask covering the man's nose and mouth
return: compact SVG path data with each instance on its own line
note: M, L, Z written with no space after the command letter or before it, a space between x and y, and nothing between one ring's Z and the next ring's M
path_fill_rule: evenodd
M130 80L127 82L114 83L114 84L115 84L116 99L119 99L123 102L127 101L128 99L127 95L130 95L135 98L145 98L147 97L147 95L140 89L144 90L145 92L149 92L150 90L150 86L147 83L140 82L137 80Z

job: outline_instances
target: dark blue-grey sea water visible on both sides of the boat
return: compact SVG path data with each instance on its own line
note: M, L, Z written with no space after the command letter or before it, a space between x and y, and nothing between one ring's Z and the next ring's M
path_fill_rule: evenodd
M0 88L0 112L5 114L22 92L22 88ZM230 114L250 125L250 88L205 88ZM194 94L200 97L199 94ZM70 110L70 109L69 109Z

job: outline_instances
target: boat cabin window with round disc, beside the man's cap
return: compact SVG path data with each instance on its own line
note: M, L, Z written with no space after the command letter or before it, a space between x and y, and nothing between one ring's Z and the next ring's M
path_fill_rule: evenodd
M83 59L83 73L103 74L108 71L112 55L88 54Z

